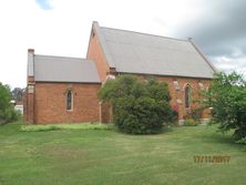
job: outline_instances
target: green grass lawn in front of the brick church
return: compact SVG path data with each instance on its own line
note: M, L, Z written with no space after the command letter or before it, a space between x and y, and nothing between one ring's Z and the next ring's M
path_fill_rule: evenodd
M20 123L0 126L1 185L246 184L246 146L215 126L145 136L112 129L22 130ZM195 163L195 155L230 161Z

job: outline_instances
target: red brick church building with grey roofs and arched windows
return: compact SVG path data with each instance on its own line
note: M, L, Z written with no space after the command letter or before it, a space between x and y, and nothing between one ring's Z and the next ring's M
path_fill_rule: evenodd
M100 27L93 22L86 59L35 54L28 50L24 121L30 124L110 123L110 105L98 99L109 79L150 75L168 84L171 105L183 122L209 85L215 68L192 39L178 40ZM207 111L202 120L208 119Z

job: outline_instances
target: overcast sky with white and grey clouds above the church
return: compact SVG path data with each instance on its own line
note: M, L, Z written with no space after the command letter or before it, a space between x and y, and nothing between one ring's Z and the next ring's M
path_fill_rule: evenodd
M193 38L222 71L246 73L246 0L1 0L0 82L27 85L27 52L85 58L92 21Z

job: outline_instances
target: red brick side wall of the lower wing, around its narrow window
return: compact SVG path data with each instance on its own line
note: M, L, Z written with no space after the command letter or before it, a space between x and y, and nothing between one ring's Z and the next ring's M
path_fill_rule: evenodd
M39 83L34 90L34 123L99 122L101 84ZM66 110L66 90L73 92L73 110Z

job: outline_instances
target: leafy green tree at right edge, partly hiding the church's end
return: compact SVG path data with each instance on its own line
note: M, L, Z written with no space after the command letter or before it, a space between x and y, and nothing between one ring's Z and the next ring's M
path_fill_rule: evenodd
M206 97L204 104L213 107L213 117L219 123L219 130L222 132L233 130L237 142L245 140L246 81L243 75L236 72L217 74Z

